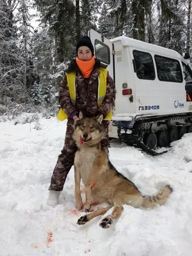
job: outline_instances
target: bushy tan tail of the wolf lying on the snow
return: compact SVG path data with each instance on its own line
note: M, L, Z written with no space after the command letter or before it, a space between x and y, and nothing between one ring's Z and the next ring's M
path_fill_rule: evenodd
M173 189L169 185L166 185L155 196L143 196L142 205L150 208L157 206L157 204L163 205L172 191Z

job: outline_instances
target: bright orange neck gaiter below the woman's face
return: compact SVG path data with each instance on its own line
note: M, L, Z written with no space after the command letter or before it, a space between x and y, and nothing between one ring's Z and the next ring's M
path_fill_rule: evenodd
M88 78L92 74L93 66L95 65L95 55L93 55L92 60L90 61L79 60L79 58L76 57L76 63L81 70L83 77Z

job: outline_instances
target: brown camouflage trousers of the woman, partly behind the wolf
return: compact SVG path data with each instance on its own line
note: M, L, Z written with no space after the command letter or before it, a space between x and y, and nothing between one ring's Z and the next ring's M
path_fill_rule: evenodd
M74 158L77 151L77 146L72 138L72 134L74 132L73 127L74 121L67 121L67 131L65 134L65 144L63 150L61 150L61 154L58 156L58 161L53 170L51 177L51 185L49 186L49 190L54 191L62 191L63 186L65 184L65 180L67 179L67 174L70 171L70 168L74 164ZM103 121L102 125L104 126L104 138L101 141L102 149L106 149L109 146L109 122Z

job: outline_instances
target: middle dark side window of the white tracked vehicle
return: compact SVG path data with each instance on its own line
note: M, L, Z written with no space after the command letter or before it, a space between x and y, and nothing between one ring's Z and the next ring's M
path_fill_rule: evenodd
M155 55L157 76L160 81L182 83L182 71L178 60Z

